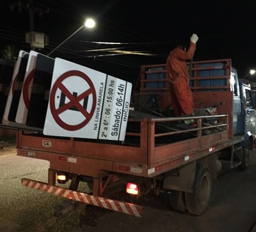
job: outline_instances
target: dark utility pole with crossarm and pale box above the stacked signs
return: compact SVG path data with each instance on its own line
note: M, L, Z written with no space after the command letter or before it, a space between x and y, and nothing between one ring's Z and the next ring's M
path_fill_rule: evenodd
M16 1L10 6L10 10L13 11L14 8L17 8L19 13L22 13L24 9L29 12L30 32L26 33L26 42L30 43L30 49L35 50L35 48L44 48L48 45L48 36L34 31L34 14L38 13L40 17L43 13L49 13L49 9L34 7L33 0L27 0L25 3L20 0Z

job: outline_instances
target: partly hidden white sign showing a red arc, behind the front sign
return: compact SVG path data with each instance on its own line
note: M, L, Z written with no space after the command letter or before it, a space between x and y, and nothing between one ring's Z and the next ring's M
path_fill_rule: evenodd
M23 82L22 93L19 98L18 109L15 121L17 123L26 123L28 109L29 109L29 100L31 95L31 89L35 74L35 65L36 58L38 53L36 51L31 50L29 53L28 64L26 68L26 74Z

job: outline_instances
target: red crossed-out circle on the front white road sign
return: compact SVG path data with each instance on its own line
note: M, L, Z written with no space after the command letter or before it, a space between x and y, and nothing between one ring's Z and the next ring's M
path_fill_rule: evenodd
M79 96L74 97L73 94L71 92L69 92L69 90L62 84L62 81L65 80L66 78L69 78L70 76L79 76L80 78L82 78L84 81L86 81L89 84L89 89L84 91L83 93L81 93ZM56 109L55 107L55 95L56 95L56 91L57 89L60 89L60 91L62 91L69 99L70 101L59 107L58 109ZM91 112L87 112L86 109L84 109L81 104L79 103L80 100L84 99L85 97L89 96L90 94L93 95L93 104L92 104L92 109ZM66 122L63 122L61 120L61 118L59 117L59 114L69 110L71 107L75 106L80 113L83 114L84 117L86 117L86 119L77 124L77 125L70 125ZM89 78L89 76L81 71L78 70L71 70L68 72L63 73L61 76L59 76L59 78L57 79L57 81L54 83L52 90L51 90L51 94L50 94L50 109L52 112L52 116L54 118L54 120L57 122L57 124L62 127L63 129L67 130L67 131L76 131L79 130L80 128L82 128L83 126L85 126L92 118L94 111L96 108L96 91L94 88L94 85L91 81L91 79Z

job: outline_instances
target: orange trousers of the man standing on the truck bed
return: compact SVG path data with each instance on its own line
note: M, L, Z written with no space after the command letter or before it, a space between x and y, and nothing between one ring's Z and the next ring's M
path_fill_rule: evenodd
M187 82L170 83L170 96L174 116L193 114L193 96Z

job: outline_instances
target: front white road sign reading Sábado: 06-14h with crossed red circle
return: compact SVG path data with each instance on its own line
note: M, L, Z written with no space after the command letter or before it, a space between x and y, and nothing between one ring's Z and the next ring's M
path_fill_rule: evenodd
M131 83L56 58L44 134L123 141L131 91Z

